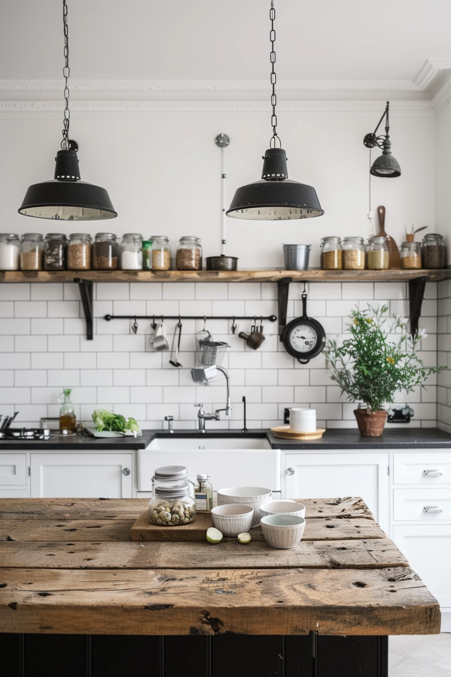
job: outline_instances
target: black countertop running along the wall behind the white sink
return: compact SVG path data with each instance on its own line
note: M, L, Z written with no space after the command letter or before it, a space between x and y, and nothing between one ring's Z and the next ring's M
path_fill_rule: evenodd
M381 449L449 449L451 435L436 428L396 428L385 426L381 437L362 437L357 429L329 429L321 439L314 441L290 441L275 437L265 429L250 429L246 433L240 430L212 430L201 433L198 430L178 430L174 433L161 430L144 430L142 437L91 438L78 433L72 437L51 437L45 440L5 440L0 439L0 451L123 451L145 449L155 437L260 437L268 439L273 449L283 451L298 450L381 450Z

